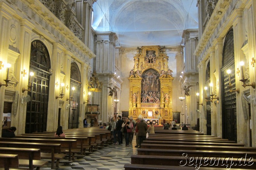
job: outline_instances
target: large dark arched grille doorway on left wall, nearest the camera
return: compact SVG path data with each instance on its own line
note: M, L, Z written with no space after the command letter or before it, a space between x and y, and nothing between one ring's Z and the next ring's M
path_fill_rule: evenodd
M29 72L34 76L32 89L28 91L31 100L27 103L25 133L43 132L46 130L48 96L49 96L49 69L50 57L44 43L36 40L31 43Z

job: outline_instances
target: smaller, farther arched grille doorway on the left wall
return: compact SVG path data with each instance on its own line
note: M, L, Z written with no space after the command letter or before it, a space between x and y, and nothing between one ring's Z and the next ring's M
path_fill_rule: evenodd
M70 68L70 93L72 96L70 101L71 107L68 114L68 129L79 127L79 109L80 109L80 88L81 88L81 76L80 71L75 62L71 63ZM73 88L74 87L74 88ZM73 90L73 89L74 90Z

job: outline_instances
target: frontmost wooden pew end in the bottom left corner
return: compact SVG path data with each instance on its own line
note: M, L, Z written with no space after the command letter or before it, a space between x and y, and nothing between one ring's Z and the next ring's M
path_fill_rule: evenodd
M0 167L4 167L4 170L9 170L12 168L19 167L18 155L14 154L0 154Z

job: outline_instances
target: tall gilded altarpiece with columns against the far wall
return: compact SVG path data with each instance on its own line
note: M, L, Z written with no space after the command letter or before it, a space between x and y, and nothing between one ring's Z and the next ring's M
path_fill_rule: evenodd
M172 121L172 70L165 48L137 48L130 71L129 116Z

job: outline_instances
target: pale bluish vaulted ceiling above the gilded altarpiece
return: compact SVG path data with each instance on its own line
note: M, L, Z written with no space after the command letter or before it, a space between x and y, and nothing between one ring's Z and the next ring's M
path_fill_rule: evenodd
M196 0L97 0L92 27L112 31L123 47L176 46L182 31L198 28Z

